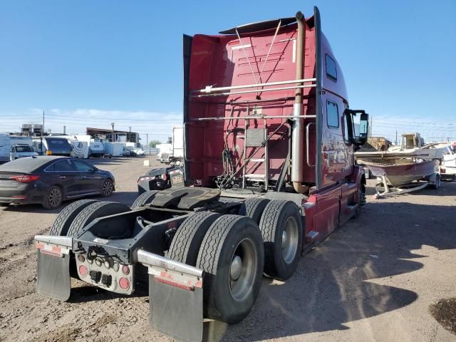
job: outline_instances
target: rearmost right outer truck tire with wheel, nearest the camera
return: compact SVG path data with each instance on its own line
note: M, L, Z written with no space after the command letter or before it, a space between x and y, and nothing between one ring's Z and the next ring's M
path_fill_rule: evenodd
M209 227L199 249L204 271L204 314L229 324L252 310L261 286L264 246L249 217L222 215Z

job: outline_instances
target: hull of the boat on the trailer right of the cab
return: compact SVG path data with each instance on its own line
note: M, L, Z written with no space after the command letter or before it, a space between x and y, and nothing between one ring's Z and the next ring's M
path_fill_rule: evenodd
M390 185L398 187L414 180L420 180L423 177L432 175L439 160L426 160L424 162L410 162L408 164L396 165L381 165L375 163L366 163L366 166L371 170L376 177L385 176Z

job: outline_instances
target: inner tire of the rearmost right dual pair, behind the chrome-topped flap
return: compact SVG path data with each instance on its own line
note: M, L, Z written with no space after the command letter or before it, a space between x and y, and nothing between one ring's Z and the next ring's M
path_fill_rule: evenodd
M204 235L219 217L220 214L213 212L197 212L187 217L172 239L168 257L195 266Z

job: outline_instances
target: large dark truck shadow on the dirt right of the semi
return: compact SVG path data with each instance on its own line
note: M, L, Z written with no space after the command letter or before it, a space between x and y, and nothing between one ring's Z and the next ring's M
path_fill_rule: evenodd
M343 330L348 322L413 303L418 298L414 291L369 280L421 269L422 256L411 251L423 244L455 249L456 230L450 223L454 208L372 202L363 209L360 219L351 220L306 254L291 279L264 279L244 321L234 326L205 323L207 341L244 341L248 336L260 341Z

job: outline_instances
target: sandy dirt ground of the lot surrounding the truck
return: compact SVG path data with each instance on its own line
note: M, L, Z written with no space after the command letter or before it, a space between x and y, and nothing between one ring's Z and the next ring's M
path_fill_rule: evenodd
M115 175L110 200L131 204L143 160L90 161ZM374 199L373 185L359 219L301 258L289 281L264 279L244 321L205 323L207 339L456 341L429 309L456 296L456 183L390 199ZM67 303L36 294L33 236L62 208L0 208L0 341L172 341L150 328L147 289L118 296L73 279Z

